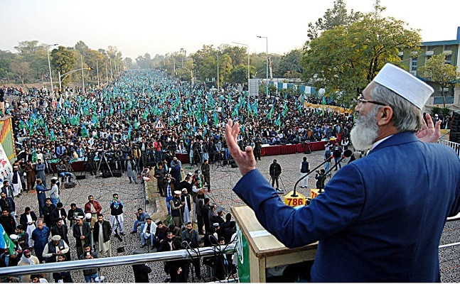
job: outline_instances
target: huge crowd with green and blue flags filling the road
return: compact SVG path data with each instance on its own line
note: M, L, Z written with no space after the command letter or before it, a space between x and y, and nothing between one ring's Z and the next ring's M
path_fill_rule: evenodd
M249 145L255 153L263 144L331 137L337 138L336 147L346 148L353 125L353 114L306 109L297 97L248 97L232 85L225 85L223 92L210 92L204 84L191 86L154 70L129 70L112 84L87 87L85 92L4 87L1 97L5 114L13 116L17 159L11 175L1 180L0 224L15 249L4 251L0 266L70 260L70 231L77 240L78 258L111 256L110 237L125 234L124 204L118 195L112 196L110 217L100 214L101 205L93 196L82 208L75 202L63 204L59 198L60 189L72 185L77 160L85 161L85 170L93 175L109 168L126 173L129 182L156 178L171 224L155 223L139 208L131 233L139 233L141 247L169 251L183 248L186 241L196 248L200 239L205 246L228 244L235 222L206 196L212 190L210 163L231 158L224 139L228 119L240 122L240 148ZM154 128L158 121L165 129ZM326 152L333 147L327 146ZM188 154L191 165L199 169L185 173L177 153ZM102 169L101 160L107 161ZM47 180L47 174L57 176ZM36 190L37 204L30 204L19 216L15 200L30 190ZM69 206L66 212L63 208ZM230 258L220 260L216 278L223 279L235 268ZM186 267L180 261L169 262L166 273L171 282L186 280ZM193 267L199 278L199 260ZM146 273L147 268L136 269ZM97 277L94 269L83 273L89 282ZM21 280L40 280L38 275L29 277L23 275ZM71 280L68 273L53 273L53 278Z

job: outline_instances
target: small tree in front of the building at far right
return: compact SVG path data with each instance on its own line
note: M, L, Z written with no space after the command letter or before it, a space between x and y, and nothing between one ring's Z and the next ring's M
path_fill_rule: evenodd
M446 55L441 53L429 58L425 65L419 68L419 74L422 75L425 80L439 84L445 108L446 92L444 89L454 87L460 78L460 73L457 72L456 67L447 64Z

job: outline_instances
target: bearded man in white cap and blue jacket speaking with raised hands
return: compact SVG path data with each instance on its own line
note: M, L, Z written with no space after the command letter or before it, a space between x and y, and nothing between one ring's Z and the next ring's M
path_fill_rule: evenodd
M283 204L255 169L252 148L237 146L238 123L225 138L243 177L233 189L259 222L293 248L319 241L312 282L439 282L438 245L446 217L460 212L460 160L436 142L422 107L433 89L387 64L363 90L351 131L365 158L350 163L308 207ZM279 226L283 224L283 226Z

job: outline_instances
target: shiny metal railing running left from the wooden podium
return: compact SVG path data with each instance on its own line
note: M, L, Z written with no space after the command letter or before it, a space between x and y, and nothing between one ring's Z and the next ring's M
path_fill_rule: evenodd
M111 258L43 263L38 266L11 266L0 268L0 276L53 273L59 271L81 271L83 269L105 268L107 266L132 266L133 264L146 262L178 261L181 259L196 258L198 256L215 256L220 253L233 253L235 247L235 244L229 244L228 246L209 246L194 249L194 251L181 249L180 251L134 254L131 256L114 256Z

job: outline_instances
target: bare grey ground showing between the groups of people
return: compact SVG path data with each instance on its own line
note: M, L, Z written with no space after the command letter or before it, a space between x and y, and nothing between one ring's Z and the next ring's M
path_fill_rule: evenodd
M319 165L323 161L323 151L318 151L306 155L310 168L315 165ZM282 166L283 172L280 179L280 187L284 189L284 192L289 192L294 188L294 183L299 178L299 165L304 154L291 154L291 155L279 155L262 157L262 160L257 161L257 168L262 174L268 179L269 165L273 159L276 158L278 163ZM191 168L190 165L183 165L186 172L193 171L196 168ZM333 172L335 173L335 172ZM232 187L240 178L240 171L237 168L230 168L227 166L211 165L211 187L212 192L209 197L212 202L223 206L226 211L230 212L230 207L243 204L235 193L232 192ZM50 179L50 176L47 178ZM314 187L316 180L309 178L309 188ZM299 192L305 196L309 196L309 190L298 188ZM112 238L112 256L119 256L117 248L124 246L125 253L121 255L127 255L132 253L133 250L137 250L140 247L139 233L129 234L132 229L134 222L134 212L138 207L144 207L144 187L141 185L129 184L126 174L122 178L94 178L90 176L85 180L80 180L77 186L73 189L62 189L61 190L61 202L63 202L65 209L70 208L70 203L75 202L77 207L83 207L87 202L87 195L94 195L95 199L100 201L102 204L102 214L105 214L106 219L109 218L109 200L112 197L112 193L117 192L119 197L124 202L124 231L127 233L124 236L124 241L120 243L117 239ZM165 210L164 199L157 199L156 201L159 211ZM36 200L35 193L24 193L21 197L16 198L16 210L18 214L23 212L24 207L30 206L38 214L38 202ZM151 204L147 207L147 210L151 210ZM151 213L151 212L150 212ZM427 232L429 234L429 232ZM70 248L72 251L72 258L76 258L75 251L75 239L70 233ZM460 241L460 222L449 222L446 224L444 233L442 235L441 244L451 244ZM451 246L444 249L439 249L439 261L442 271L443 282L460 282L460 246ZM166 277L163 271L163 263L149 263L152 268L150 273L151 282L164 282ZM205 273L202 268L202 275ZM102 275L105 275L108 282L134 282L134 275L132 268L129 266L117 266L108 267L102 269ZM81 271L73 272L73 280L75 282L84 281ZM200 281L209 281L208 278L203 278Z

